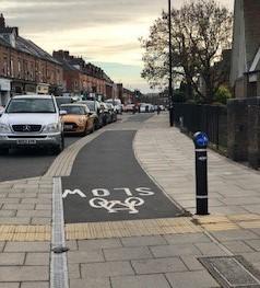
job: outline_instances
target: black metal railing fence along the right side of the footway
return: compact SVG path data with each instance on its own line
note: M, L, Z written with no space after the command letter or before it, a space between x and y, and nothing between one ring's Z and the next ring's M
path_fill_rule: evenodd
M174 104L174 119L187 133L204 131L216 149L227 148L227 108L216 105Z

